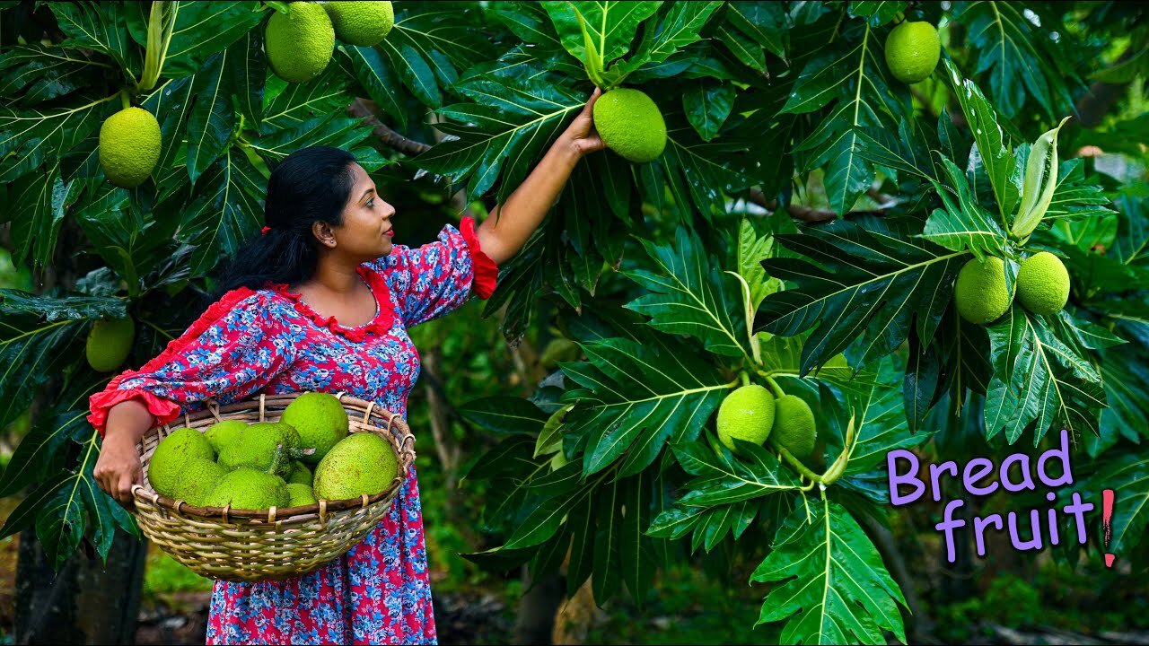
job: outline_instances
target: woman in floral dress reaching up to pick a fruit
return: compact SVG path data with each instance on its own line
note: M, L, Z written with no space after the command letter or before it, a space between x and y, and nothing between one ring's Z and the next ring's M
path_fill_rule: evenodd
M159 423L260 392L347 391L407 418L418 355L407 328L487 298L498 266L539 226L586 153L601 149L583 111L478 229L463 218L438 241L392 246L395 209L344 151L286 157L268 183L264 234L239 252L225 293L140 370L91 398L103 436L100 486L124 506L142 482L136 443ZM255 584L217 580L209 644L434 644L414 466L387 517L311 574Z

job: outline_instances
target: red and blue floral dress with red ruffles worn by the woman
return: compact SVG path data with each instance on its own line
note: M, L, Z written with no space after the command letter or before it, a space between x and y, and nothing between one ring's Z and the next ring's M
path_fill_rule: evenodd
M375 318L356 328L314 312L287 285L240 287L214 303L162 354L91 397L102 434L108 409L145 402L156 423L259 393L319 391L379 402L407 418L418 378L411 325L494 291L498 268L479 248L475 221L445 225L438 240L358 267ZM417 432L416 432L417 434ZM423 515L415 467L387 516L348 553L298 578L216 580L208 644L435 644Z

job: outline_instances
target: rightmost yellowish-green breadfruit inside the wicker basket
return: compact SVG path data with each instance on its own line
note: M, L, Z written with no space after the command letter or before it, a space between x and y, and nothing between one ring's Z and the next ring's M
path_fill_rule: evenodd
M315 468L315 495L326 500L375 495L391 486L396 474L391 443L370 432L352 433Z

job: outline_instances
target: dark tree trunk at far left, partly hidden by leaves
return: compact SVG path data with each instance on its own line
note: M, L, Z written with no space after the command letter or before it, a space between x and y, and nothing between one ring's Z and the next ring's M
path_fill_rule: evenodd
M57 284L75 286L77 259L69 249L80 248L82 243L78 225L65 220L53 264L34 280L37 293ZM59 378L53 377L44 392L51 393L57 387ZM16 643L134 644L146 553L146 543L116 530L106 564L99 557L90 560L83 551L77 551L56 574L36 531L30 528L21 532L16 562Z

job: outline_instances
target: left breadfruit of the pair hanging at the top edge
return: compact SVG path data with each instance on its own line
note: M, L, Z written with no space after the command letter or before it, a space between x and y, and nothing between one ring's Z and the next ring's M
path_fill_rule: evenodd
M288 83L307 83L331 62L336 30L321 5L292 2L287 8L290 15L275 11L268 20L268 66Z

